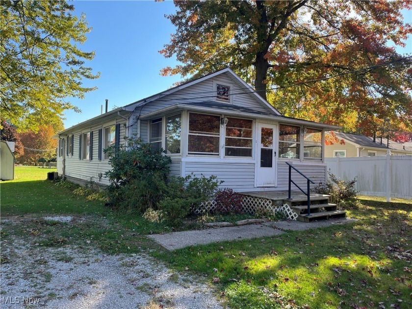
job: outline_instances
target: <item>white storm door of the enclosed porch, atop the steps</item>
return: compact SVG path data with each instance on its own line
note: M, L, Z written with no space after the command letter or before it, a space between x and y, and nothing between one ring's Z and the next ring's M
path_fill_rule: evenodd
M258 187L274 187L277 177L276 125L258 124L256 178Z

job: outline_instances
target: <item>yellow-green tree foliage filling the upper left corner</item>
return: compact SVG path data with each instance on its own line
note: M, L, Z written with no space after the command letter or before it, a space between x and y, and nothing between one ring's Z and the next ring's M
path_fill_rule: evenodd
M64 110L77 107L66 97L83 98L95 88L82 86L94 79L84 65L94 52L83 52L84 15L73 15L66 1L1 1L1 116L19 130L37 131L58 120Z

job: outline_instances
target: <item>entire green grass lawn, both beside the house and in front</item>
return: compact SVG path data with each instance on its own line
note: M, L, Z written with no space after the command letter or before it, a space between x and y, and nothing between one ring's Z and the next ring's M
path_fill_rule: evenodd
M359 209L348 210L360 220L353 224L169 252L143 236L169 229L56 186L45 180L48 171L16 167L16 180L1 182L1 217L22 218L2 223L2 240L109 254L151 248L168 267L208 281L232 308L412 308L412 201L360 197ZM86 220L47 222L45 214Z

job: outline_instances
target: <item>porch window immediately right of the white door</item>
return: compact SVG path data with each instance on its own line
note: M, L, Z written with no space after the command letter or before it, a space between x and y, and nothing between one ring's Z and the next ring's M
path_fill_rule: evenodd
M281 158L299 159L300 127L279 126L279 156Z

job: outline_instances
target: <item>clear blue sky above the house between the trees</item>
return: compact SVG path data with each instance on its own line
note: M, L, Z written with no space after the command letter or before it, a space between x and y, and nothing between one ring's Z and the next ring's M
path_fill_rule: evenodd
M74 1L75 14L86 14L92 31L80 46L83 51L95 51L96 56L86 63L101 77L84 80L84 86L97 86L83 100L69 101L81 113L66 111L65 128L100 114L104 100L109 110L123 106L170 88L180 76L163 77L160 70L177 64L174 58L164 58L158 51L169 43L175 27L164 17L176 11L172 1ZM411 12L404 12L405 21L412 23ZM412 37L405 49L412 52Z

